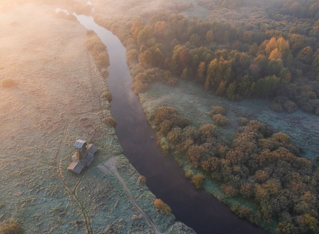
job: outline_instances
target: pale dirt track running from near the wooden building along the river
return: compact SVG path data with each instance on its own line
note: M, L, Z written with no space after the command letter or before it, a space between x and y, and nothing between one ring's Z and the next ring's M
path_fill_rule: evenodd
M105 173L108 173L108 171L111 171L116 177L117 179L120 181L121 185L123 186L123 189L125 190L125 192L127 193L129 199L132 201L132 203L135 205L136 209L144 216L146 222L148 222L153 230L155 234L160 234L161 232L158 230L156 224L153 222L153 220L143 211L143 209L141 208L141 206L137 203L137 201L134 199L134 197L132 196L130 190L127 188L126 183L124 181L124 179L122 178L122 176L119 174L119 172L116 169L116 160L117 157L112 157L110 158L108 161L100 163L99 165L97 165L97 167L102 170Z

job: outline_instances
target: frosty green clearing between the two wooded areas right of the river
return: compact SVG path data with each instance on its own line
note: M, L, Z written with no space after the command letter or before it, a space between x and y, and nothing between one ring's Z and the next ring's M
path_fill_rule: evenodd
M179 80L178 85L169 87L160 83L153 84L140 99L147 116L158 107L170 106L179 114L191 120L199 127L206 123L214 124L209 116L212 107L220 106L226 110L229 120L226 127L217 129L227 138L231 138L238 128L237 121L241 117L249 120L257 119L269 125L274 132L282 132L291 137L300 147L301 157L314 162L319 152L319 118L315 115L297 110L294 113L277 113L268 108L268 101L263 99L246 99L230 101L204 90L193 82Z

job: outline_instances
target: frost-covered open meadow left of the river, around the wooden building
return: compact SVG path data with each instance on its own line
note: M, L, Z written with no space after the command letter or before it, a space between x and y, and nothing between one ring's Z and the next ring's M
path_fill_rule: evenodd
M0 87L0 223L17 220L25 233L139 233L155 232L151 219L160 232L192 233L155 209L103 123L108 87L85 49L87 30L45 6L0 10L0 80L12 84ZM81 175L66 169L77 139L98 146Z

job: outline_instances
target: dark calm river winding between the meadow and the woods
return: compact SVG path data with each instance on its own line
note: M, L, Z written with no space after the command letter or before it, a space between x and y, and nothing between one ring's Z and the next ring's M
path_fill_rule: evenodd
M116 134L123 153L146 177L151 192L170 205L178 221L197 233L267 233L235 216L228 206L208 193L196 190L175 160L162 153L140 100L131 89L132 77L126 65L124 46L92 17L81 15L77 19L87 29L94 30L108 48L111 65L107 83L113 95L111 113L117 121Z

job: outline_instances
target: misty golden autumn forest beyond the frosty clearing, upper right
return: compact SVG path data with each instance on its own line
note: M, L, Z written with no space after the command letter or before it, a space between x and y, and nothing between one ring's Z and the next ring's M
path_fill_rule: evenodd
M102 15L95 15L95 21L117 28L127 61L134 66L136 93L155 81L174 85L177 81L171 77L178 76L231 100L267 98L277 112L299 107L319 115L319 4L284 1L278 7L278 1L273 2L199 1L207 9L238 9L228 20L162 11L120 27ZM154 69L161 75L154 77Z

